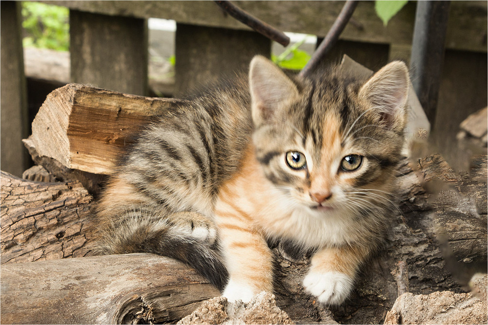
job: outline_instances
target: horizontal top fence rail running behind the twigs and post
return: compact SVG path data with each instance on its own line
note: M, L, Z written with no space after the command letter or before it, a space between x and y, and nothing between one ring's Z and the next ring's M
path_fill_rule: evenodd
M244 29L213 1L43 1L106 15L174 19L185 24ZM285 32L325 36L344 1L239 1L253 16ZM362 42L411 44L416 3L409 1L383 25L374 1L360 1L341 38ZM487 52L487 2L452 1L447 48Z

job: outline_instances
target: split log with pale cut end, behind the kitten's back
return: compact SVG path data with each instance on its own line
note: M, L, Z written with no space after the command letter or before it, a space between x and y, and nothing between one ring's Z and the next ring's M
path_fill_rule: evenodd
M131 136L175 102L68 84L47 96L29 139L40 156L70 169L106 174Z

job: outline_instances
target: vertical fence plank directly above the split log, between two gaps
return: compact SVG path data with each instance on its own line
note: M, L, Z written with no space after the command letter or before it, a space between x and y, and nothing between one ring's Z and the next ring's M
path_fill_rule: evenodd
M70 11L71 81L126 94L148 94L147 22Z

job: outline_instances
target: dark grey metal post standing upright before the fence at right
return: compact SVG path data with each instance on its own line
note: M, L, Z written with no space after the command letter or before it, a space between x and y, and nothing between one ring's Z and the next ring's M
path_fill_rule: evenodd
M412 84L434 128L444 63L449 1L418 1L410 57Z

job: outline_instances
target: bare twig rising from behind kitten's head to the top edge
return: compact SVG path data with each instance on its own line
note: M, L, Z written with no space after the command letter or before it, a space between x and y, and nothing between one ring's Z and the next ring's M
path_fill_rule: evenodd
M324 58L325 54L334 46L339 35L341 35L342 31L346 27L347 22L351 18L356 6L358 5L358 1L356 0L348 0L344 7L342 8L339 16L330 27L329 32L325 36L322 43L320 43L319 48L315 51L312 58L308 61L305 67L300 71L300 76L306 76L310 73L311 70L315 69L319 62Z

